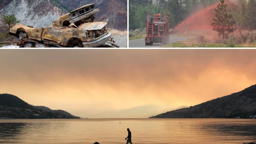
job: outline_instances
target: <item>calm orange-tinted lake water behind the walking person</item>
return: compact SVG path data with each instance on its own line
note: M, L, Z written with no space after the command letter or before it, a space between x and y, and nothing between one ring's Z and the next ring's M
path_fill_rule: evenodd
M255 119L79 119L0 120L0 143L125 144L127 128L133 144L256 142Z

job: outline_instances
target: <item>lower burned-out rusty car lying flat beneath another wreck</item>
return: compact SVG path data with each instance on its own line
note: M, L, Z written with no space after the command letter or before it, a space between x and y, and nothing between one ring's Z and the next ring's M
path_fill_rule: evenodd
M106 22L83 23L79 27L74 23L69 27L31 28L16 24L9 34L20 40L29 38L57 47L85 47L92 48L104 44L110 39L111 33L106 29Z

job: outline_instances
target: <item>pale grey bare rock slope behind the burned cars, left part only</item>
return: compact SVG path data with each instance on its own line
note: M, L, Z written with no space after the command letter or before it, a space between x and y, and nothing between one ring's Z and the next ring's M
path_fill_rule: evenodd
M21 24L37 28L52 25L66 12L53 0L5 0L0 10L1 15L15 14Z

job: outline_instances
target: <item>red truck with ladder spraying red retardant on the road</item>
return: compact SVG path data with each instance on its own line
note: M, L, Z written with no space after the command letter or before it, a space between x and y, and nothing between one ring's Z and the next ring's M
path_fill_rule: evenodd
M166 45L169 43L169 23L168 15L165 13L147 16L147 36L145 37L146 46L151 46L154 43Z

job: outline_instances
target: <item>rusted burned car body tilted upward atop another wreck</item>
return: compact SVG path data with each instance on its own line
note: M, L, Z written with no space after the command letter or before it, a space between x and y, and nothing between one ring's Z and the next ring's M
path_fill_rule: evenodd
M95 19L94 15L97 12L99 12L99 9L96 9L94 4L85 5L60 16L53 22L53 27L68 27L72 23L79 26L84 22L93 22Z

